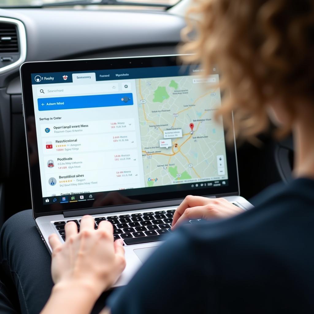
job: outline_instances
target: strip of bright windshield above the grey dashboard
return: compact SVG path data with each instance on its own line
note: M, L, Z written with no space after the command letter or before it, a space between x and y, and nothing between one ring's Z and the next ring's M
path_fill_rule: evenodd
M2 0L0 7L39 7L39 6L64 6L68 5L113 5L117 7L123 7L123 5L143 5L143 6L158 6L158 7L171 7L174 4L179 2L179 0L124 0L124 1L116 1L116 0Z

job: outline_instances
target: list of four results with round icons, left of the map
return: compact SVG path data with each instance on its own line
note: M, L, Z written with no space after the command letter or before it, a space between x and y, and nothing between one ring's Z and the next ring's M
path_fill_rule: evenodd
M140 187L134 119L47 123L41 132L49 194Z

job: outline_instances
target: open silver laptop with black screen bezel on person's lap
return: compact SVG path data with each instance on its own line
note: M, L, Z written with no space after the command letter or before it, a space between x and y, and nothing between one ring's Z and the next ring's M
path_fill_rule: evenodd
M67 221L108 220L125 244L121 286L169 236L188 194L252 207L239 194L235 143L214 119L218 69L201 72L177 55L21 66L33 216L49 252Z

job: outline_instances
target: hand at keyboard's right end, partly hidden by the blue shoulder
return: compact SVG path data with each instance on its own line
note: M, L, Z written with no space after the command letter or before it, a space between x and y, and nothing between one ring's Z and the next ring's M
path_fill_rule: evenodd
M171 229L185 220L228 218L240 213L243 213L243 209L231 204L225 198L188 195L176 209Z

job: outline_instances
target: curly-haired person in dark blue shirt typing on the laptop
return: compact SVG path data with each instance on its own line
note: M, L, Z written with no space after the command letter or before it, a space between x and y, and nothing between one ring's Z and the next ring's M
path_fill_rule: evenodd
M314 2L195 0L189 16L182 51L195 53L186 61L201 62L205 76L213 65L222 73L221 88L231 97L217 114L224 116L230 138L230 111L239 138L254 141L269 118L278 126L275 136L291 130L293 180L262 192L257 206L241 214L224 199L187 196L175 212L174 232L129 284L110 295L101 313L311 313ZM6 274L22 311L89 313L125 267L111 224L104 221L94 230L93 219L84 216L79 233L75 224L66 225L65 243L50 236L51 290L48 252L33 256L27 243L37 242L23 238L32 228L26 215L10 218L1 232ZM199 218L207 221L182 224Z

